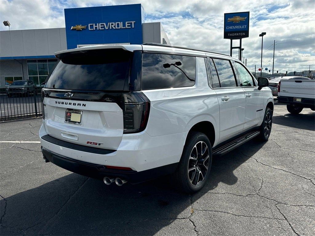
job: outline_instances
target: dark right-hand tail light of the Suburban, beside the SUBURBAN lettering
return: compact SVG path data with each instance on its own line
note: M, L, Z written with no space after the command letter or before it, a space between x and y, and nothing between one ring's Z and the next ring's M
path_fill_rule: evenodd
M137 133L146 128L150 100L142 92L123 93L123 133Z

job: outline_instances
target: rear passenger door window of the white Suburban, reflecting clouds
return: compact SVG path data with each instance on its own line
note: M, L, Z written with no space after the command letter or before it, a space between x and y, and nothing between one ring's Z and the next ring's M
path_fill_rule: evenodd
M236 80L229 60L213 59L221 87L236 87Z

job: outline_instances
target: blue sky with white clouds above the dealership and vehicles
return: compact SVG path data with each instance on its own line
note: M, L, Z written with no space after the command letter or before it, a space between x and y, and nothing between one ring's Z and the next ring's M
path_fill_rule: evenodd
M261 32L263 67L281 72L315 69L315 0L298 1L120 1L120 0L0 0L0 20L9 20L11 30L65 27L64 8L141 3L145 22L161 21L174 45L202 48L229 54L230 41L223 39L223 16L250 12L249 38L242 40L247 66L260 66ZM1 25L0 30L8 30ZM233 46L238 46L235 40ZM233 57L238 50L233 51Z

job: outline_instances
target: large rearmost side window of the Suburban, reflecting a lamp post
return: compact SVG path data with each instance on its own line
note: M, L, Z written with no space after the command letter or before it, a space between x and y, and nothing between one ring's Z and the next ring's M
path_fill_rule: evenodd
M141 89L189 87L195 84L196 58L143 53Z

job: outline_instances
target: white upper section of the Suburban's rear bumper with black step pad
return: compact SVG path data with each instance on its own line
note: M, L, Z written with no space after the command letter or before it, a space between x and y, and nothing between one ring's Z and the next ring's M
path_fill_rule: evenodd
M183 132L155 137L149 136L145 131L124 134L117 150L92 148L88 145L77 145L74 142L69 144L69 142L59 139L57 140L60 142L56 142L56 138L50 140L47 138L48 133L44 125L40 128L39 136L43 149L47 150L46 153L52 153L54 156L61 156L80 163L88 163L92 166L129 167L133 171L140 173L172 164L177 166L185 145L187 133ZM54 160L51 162L54 163ZM77 170L73 172L78 173ZM101 172L101 176L103 176L103 173ZM169 171L161 172L162 175L168 173Z

